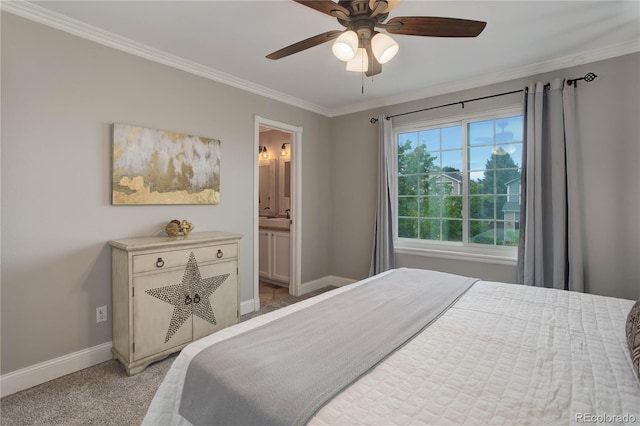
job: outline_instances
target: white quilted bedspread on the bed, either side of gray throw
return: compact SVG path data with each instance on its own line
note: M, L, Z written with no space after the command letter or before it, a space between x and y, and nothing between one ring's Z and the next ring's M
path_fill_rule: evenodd
M188 394L187 378L194 375L192 363L207 351L251 333L275 330L287 319L304 318L323 304L337 304L357 292L370 294L382 281L415 281L419 288L434 279L469 282L464 278L406 268L387 271L198 340L174 361L143 424L192 424L184 407L180 410L181 400ZM640 424L638 366L625 334L634 301L473 280L450 302L407 341L355 374L300 424ZM306 337L313 341L316 333ZM257 387L252 374L239 381ZM267 393L277 398L281 392ZM208 391L195 395L210 401ZM286 405L292 398L282 393L282 399ZM208 403L198 406L209 408ZM235 406L232 411L250 408ZM213 413L193 423L248 424L221 421ZM271 420L250 423L278 423Z

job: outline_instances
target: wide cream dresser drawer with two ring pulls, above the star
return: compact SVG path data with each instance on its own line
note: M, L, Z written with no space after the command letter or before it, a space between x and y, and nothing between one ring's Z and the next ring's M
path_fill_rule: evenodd
M182 250L161 251L133 256L133 273L158 271L175 267L184 267L191 253L196 262L203 264L216 260L231 259L238 256L237 244L220 244L208 247L187 248Z

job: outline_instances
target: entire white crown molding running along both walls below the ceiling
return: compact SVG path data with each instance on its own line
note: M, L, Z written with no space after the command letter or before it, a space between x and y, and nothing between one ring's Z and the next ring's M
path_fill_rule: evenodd
M632 40L617 45L578 52L569 56L557 58L551 61L541 62L538 64L513 68L511 70L505 70L502 72L491 72L484 76L466 79L451 84L431 86L424 90L411 91L410 93L401 93L394 96L382 97L372 101L348 105L345 107L326 108L287 95L285 93L272 90L268 87L252 83L248 80L240 79L231 74L206 67L197 62L189 61L177 55L172 55L151 46L147 46L143 43L138 43L126 37L122 37L93 25L86 24L82 21L69 18L62 14L53 12L41 6L34 5L24 0L0 1L0 9L14 15L32 20L34 22L56 28L66 33L91 40L104 46L127 52L141 58L145 58L194 75L198 75L200 77L207 78L209 80L217 81L219 83L236 87L247 92L264 96L266 98L283 102L288 105L315 112L330 118L387 107L390 105L397 105L405 102L412 102L462 90L503 83L509 80L529 77L536 74L556 71L563 68L583 65L640 51L640 42L638 42L638 40Z

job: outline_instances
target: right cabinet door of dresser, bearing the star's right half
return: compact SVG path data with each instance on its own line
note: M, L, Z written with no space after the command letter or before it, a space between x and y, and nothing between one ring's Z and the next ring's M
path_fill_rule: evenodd
M193 340L236 324L240 310L237 261L201 266L200 275L205 294L194 290Z

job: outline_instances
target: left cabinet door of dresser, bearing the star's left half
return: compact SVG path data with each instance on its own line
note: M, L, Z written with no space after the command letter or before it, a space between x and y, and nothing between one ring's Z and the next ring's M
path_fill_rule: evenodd
M192 339L192 301L183 286L184 269L133 279L133 359L139 360Z

